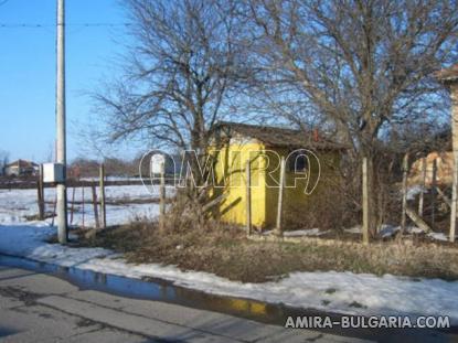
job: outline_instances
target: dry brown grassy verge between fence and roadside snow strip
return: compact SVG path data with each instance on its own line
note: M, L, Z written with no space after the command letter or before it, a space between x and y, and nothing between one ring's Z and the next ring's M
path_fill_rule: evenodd
M160 262L207 271L232 280L264 282L294 271L353 271L458 279L458 250L430 244L370 246L317 243L260 243L235 227L161 231L132 223L108 228L85 246L124 253L130 262Z

